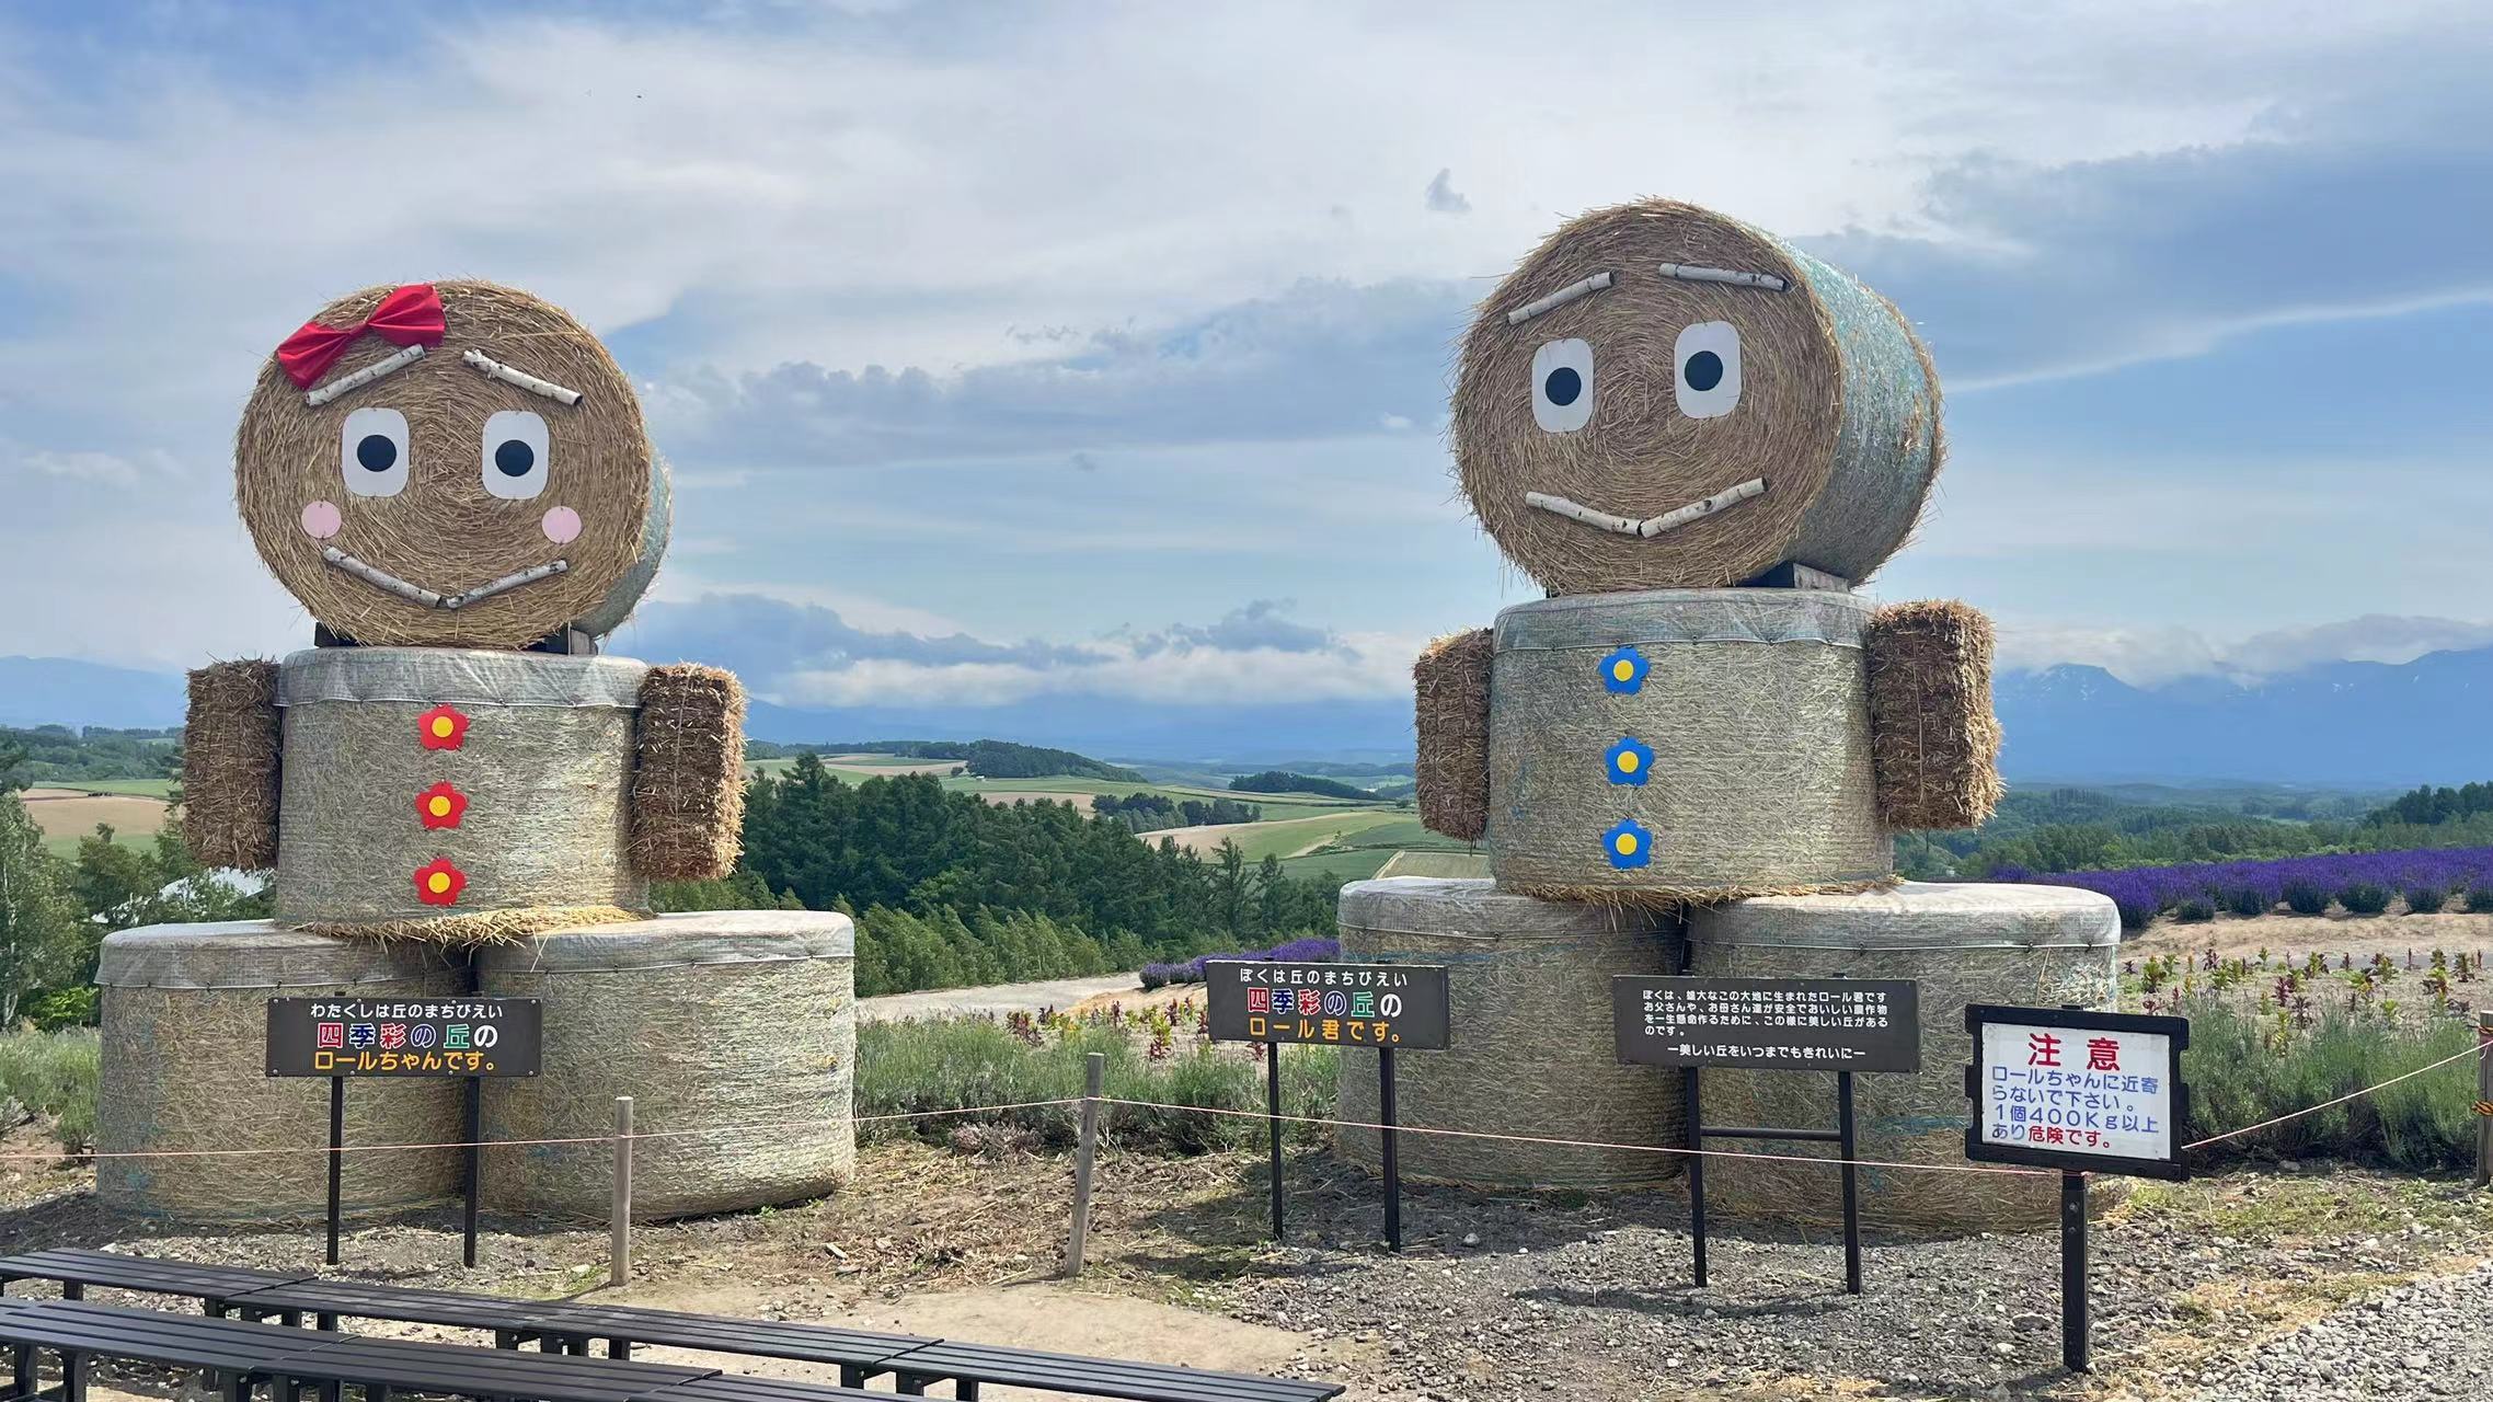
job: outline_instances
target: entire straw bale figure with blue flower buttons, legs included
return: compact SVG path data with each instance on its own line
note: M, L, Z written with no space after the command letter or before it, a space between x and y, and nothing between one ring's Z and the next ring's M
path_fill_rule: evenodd
M1421 818L1486 841L1491 881L1341 896L1351 958L1446 963L1456 1025L1493 1030L1409 1058L1404 1123L1685 1148L1678 1078L1613 1060L1613 975L1915 978L1922 1070L1862 1078L1862 1153L1962 1165L1964 1005L2112 1003L2119 921L2084 891L1895 878L1892 833L1977 826L2002 791L1989 621L1852 594L1940 471L1940 379L1912 327L1723 215L1598 210L1481 307L1453 454L1481 526L1548 599L1414 669ZM1374 1113L1374 1078L1344 1048L1346 1118ZM1563 1103L1516 1090L1533 1085ZM1835 1090L1832 1073L1718 1068L1703 1098L1715 1123L1815 1125ZM1341 1145L1374 1163L1374 1138ZM1822 1217L1832 1172L1790 1163L1820 1148L1778 1148L1718 1160L1713 1202ZM1591 1172L1678 1168L1623 1153ZM1551 1185L1588 1165L1521 1143L1421 1170ZM1984 1230L2049 1225L2054 1200L2002 1175L1872 1172L1862 1212Z

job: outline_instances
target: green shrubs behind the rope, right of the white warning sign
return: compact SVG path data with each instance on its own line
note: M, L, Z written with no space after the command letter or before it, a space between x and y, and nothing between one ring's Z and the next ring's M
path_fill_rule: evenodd
M2338 1095L2386 1085L2473 1043L2458 1020L2393 1025L2326 1013L2309 1033L2279 1040L2271 1018L2224 1003L2191 1008L2181 1073L2191 1088L2184 1140L2256 1125ZM2264 1158L2343 1158L2376 1168L2453 1170L2476 1163L2476 1068L2456 1060L2373 1095L2286 1120L2201 1150L2201 1168Z

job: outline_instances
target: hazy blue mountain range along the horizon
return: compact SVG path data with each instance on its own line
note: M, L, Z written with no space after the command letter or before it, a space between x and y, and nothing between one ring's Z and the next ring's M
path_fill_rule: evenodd
M2333 661L2259 681L2129 686L2099 666L1997 684L2002 768L2022 781L2276 781L2403 788L2493 778L2493 649L2408 664ZM0 723L175 726L182 679L65 659L0 659ZM765 741L1005 738L1102 758L1409 758L1411 703L1164 706L1042 696L1015 706L795 708L758 701Z

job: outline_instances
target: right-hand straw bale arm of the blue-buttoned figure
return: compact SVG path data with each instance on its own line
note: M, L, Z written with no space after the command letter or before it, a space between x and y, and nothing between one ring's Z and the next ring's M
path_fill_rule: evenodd
M1862 639L1880 821L1974 828L1999 806L1992 621L1955 599L1890 604Z

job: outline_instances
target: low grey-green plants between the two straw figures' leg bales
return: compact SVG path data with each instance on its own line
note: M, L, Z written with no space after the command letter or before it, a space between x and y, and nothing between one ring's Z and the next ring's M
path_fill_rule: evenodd
M1104 1093L1117 1100L1217 1110L1264 1108L1261 1065L1197 1043L1192 1033L1179 1033L1177 1045L1179 1050L1167 1060L1149 1060L1134 1038L1107 1028L1045 1030L1040 1045L1030 1045L987 1018L863 1023L858 1028L858 1115L1072 1100L1082 1095L1087 1053L1107 1055ZM1334 1113L1334 1053L1329 1048L1291 1048L1291 1055L1281 1058L1281 1110L1289 1115ZM940 1140L955 1125L977 1123L1015 1125L1037 1133L1050 1145L1074 1140L1072 1105L880 1120L863 1123L858 1130L865 1138L922 1135ZM1102 1133L1124 1145L1204 1153L1256 1143L1264 1125L1229 1115L1109 1105ZM1296 1138L1319 1135L1314 1125L1294 1125L1291 1133Z

